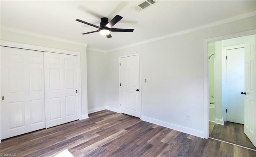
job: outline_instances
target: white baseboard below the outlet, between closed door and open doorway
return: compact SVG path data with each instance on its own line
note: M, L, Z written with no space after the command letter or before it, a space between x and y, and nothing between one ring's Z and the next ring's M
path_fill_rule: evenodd
M193 136L204 138L204 131L191 129L191 128L188 128L188 127L184 127L184 126L181 126L181 125L169 123L169 122L166 122L166 121L161 121L159 119L154 119L154 118L146 117L146 116L143 116L143 115L141 117L141 120L142 121L147 121L149 123L153 123L153 124L156 124L156 125L161 125L163 127L169 128L169 129L174 129L174 130L177 130L177 131L180 131L180 132L183 132L183 133L187 133L187 134L190 134L190 135L193 135Z

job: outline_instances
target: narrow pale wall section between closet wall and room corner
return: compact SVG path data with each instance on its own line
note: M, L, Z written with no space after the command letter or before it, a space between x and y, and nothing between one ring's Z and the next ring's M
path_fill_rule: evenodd
M88 113L106 109L105 54L87 50Z

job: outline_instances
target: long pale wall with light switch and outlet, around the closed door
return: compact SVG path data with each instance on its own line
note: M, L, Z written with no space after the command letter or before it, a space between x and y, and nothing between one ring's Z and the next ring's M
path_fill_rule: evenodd
M107 105L119 109L118 56L140 52L142 119L204 137L204 39L255 29L255 19L108 52Z

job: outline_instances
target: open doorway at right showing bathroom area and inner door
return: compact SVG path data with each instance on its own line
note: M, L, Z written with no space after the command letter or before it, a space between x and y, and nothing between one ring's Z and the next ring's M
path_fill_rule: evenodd
M251 51L249 50L248 53L246 43L251 38L254 46L249 46L249 49L253 49L254 56L250 57L254 58L254 62L249 63L248 66L246 55L248 56ZM256 99L255 81L253 81L256 79L255 35L209 42L208 56L209 137L256 149L256 118L248 112L246 106L248 94L253 95L250 97L254 105ZM248 76L247 73L251 72L253 73ZM246 82L251 83L254 91L248 92ZM249 131L253 133L252 137L250 133L246 133L250 123L246 117L250 117L250 121L254 123L254 126L250 126L252 131Z

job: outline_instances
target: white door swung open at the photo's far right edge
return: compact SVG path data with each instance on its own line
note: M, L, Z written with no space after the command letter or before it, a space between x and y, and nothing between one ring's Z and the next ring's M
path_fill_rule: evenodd
M256 147L256 36L245 44L244 133Z

